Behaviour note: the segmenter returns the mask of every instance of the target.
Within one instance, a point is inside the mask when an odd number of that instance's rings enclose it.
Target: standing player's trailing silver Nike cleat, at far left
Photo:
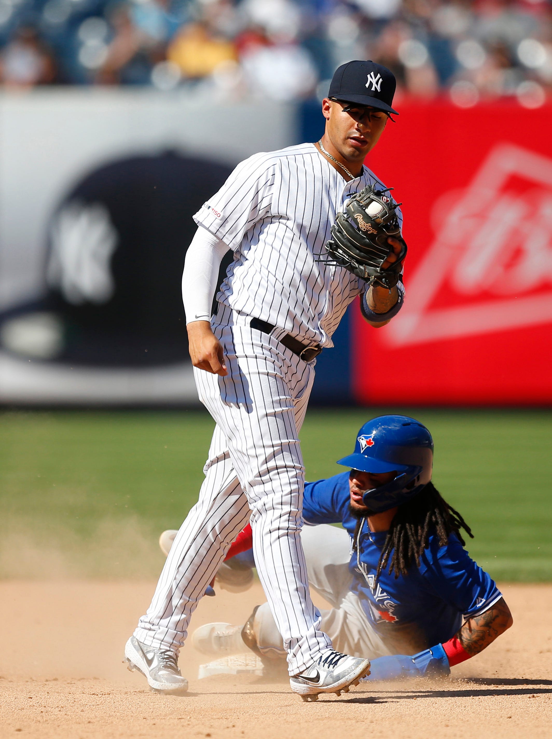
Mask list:
[[[125,645],[125,657],[128,669],[141,672],[154,692],[183,695],[188,690],[188,681],[180,674],[174,652],[149,647],[131,636]]]

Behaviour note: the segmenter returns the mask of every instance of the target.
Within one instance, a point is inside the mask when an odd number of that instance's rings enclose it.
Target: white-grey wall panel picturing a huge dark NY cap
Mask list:
[[[197,403],[180,279],[192,215],[296,142],[287,103],[0,95],[0,402]]]

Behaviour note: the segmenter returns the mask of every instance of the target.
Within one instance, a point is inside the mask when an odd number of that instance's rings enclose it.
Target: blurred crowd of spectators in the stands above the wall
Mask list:
[[[350,59],[398,95],[470,106],[552,90],[543,0],[0,0],[5,87],[201,86],[219,98],[324,97]]]

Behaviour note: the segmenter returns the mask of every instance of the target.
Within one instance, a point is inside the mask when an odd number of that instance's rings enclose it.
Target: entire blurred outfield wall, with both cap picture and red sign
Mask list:
[[[552,106],[400,109],[368,165],[403,201],[405,306],[376,331],[352,305],[313,400],[551,403]],[[0,401],[197,402],[191,214],[237,161],[323,125],[316,102],[1,95]]]

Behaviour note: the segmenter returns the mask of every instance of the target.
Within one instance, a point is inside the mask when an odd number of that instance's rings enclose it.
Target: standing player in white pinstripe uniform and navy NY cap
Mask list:
[[[370,186],[385,191],[363,162],[396,112],[394,92],[389,69],[371,61],[344,64],[322,103],[324,137],[245,160],[194,217],[198,229],[186,254],[183,299],[197,389],[217,426],[199,501],[126,644],[129,668],[143,672],[159,692],[187,689],[177,655],[191,614],[249,520],[291,689],[316,700],[321,692],[347,691],[369,673],[367,659],[333,650],[310,599],[300,537],[299,429],[316,356],[333,346],[333,331],[355,296],[374,327],[401,308],[406,245],[400,211],[395,237],[384,234],[380,271],[354,260],[344,268],[342,256],[328,248],[330,236],[342,235],[333,224],[347,203]],[[380,204],[389,201],[380,193]],[[354,217],[363,232],[375,234],[364,211]],[[358,231],[359,242],[363,238]],[[219,265],[229,249],[234,262],[211,316]]]

